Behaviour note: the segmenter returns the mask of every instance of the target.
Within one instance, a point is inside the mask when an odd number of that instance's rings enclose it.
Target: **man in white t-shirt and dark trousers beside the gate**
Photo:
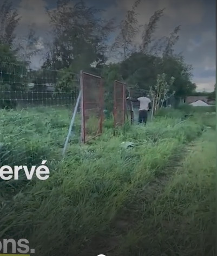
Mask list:
[[[130,99],[129,97],[127,99]],[[140,102],[139,109],[139,123],[146,124],[148,118],[148,111],[152,108],[151,100],[147,97],[146,93],[143,93],[143,97],[140,97],[136,100],[130,99],[133,102]]]

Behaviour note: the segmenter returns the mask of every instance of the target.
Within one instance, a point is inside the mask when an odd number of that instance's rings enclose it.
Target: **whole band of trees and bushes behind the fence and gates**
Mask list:
[[[102,10],[89,7],[83,1],[73,5],[70,0],[57,1],[56,9],[48,10],[52,40],[46,44],[43,66],[37,71],[28,71],[31,57],[40,52],[39,39],[34,26],[30,25],[26,39],[18,43],[15,29],[21,17],[10,2],[4,1],[0,7],[0,62],[10,65],[5,67],[0,63],[3,75],[0,89],[27,90],[27,84],[34,83],[34,91],[38,92],[44,91],[46,84],[53,84],[57,91],[75,92],[75,74],[83,69],[103,76],[108,108],[115,79],[126,81],[136,94],[154,88],[157,76],[165,74],[167,91],[174,92],[176,99],[195,94],[193,67],[181,54],[174,52],[180,26],[157,39],[157,24],[164,9],[156,10],[147,24],[139,24],[140,2],[133,3],[119,24],[113,18],[104,20]],[[139,44],[134,42],[135,37],[140,37]],[[118,62],[107,64],[114,56]],[[62,73],[57,75],[54,71]],[[170,82],[172,77],[173,83]],[[214,93],[210,94],[210,98],[213,97]]]

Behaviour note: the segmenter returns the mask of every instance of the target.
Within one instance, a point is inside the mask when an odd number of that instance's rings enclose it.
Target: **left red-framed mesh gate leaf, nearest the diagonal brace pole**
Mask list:
[[[81,71],[81,140],[88,142],[102,133],[103,123],[103,81],[100,76]]]

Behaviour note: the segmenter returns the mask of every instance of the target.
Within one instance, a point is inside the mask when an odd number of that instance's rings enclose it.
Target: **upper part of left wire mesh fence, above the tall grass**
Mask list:
[[[0,107],[73,106],[79,92],[78,75],[0,62]]]

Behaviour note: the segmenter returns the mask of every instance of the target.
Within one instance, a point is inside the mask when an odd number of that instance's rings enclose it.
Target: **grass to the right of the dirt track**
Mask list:
[[[188,150],[154,199],[140,191],[117,254],[215,255],[215,132],[203,133]]]

